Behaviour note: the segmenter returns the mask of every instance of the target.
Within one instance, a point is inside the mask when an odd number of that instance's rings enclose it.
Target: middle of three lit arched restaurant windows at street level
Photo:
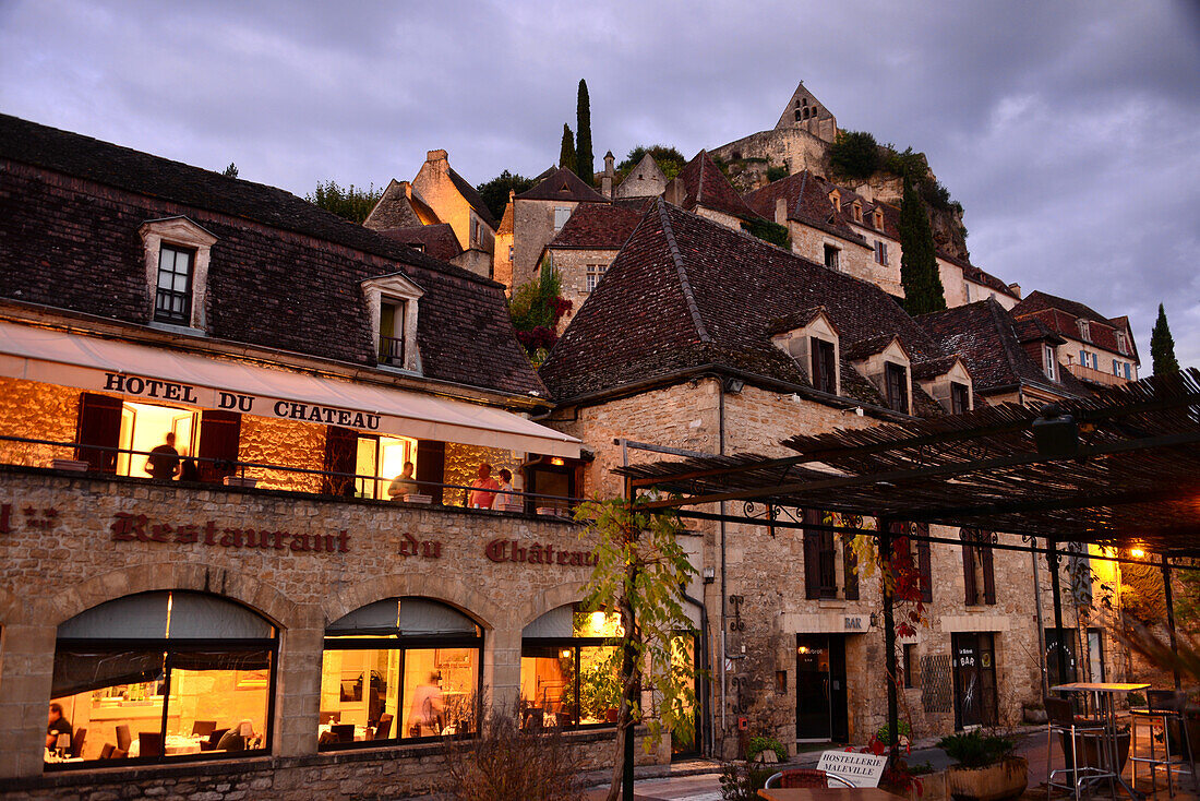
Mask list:
[[[325,627],[322,749],[476,730],[482,629],[426,598],[388,598]]]

